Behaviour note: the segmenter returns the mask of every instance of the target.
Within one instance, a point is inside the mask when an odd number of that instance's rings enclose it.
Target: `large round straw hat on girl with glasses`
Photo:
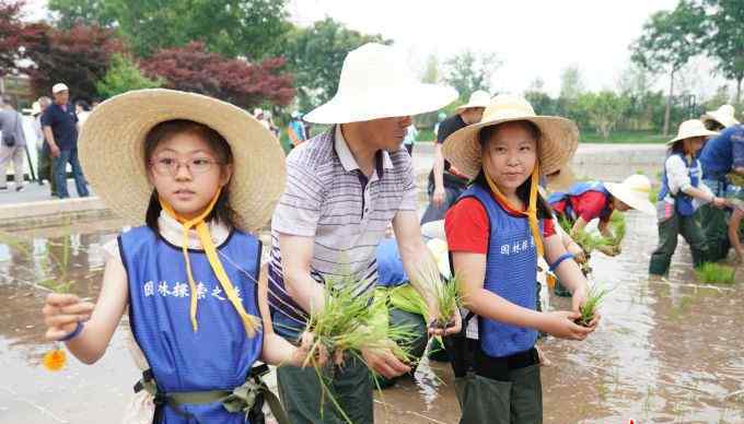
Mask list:
[[[284,154],[277,139],[246,111],[200,94],[139,90],[96,107],[80,134],[80,161],[97,196],[132,224],[144,222],[153,190],[144,166],[144,138],[158,123],[189,119],[219,132],[230,144],[230,202],[242,229],[271,217],[284,189]]]

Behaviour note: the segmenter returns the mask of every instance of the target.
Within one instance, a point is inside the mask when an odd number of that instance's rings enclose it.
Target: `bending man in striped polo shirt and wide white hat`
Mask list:
[[[305,116],[330,128],[287,156],[287,187],[271,220],[269,285],[279,294],[272,321],[291,341],[305,328],[307,311],[323,308],[327,275],[350,278],[360,293],[374,290],[375,249],[391,223],[406,273],[421,279],[435,270],[421,239],[412,164],[402,142],[411,115],[444,107],[456,92],[418,82],[405,62],[380,44],[350,51],[336,95]],[[434,310],[428,293],[420,294]],[[458,315],[453,318],[447,331],[458,331]],[[410,370],[390,350],[363,349],[361,356],[364,362],[346,354],[327,382],[354,424],[373,422],[369,368],[386,378]],[[292,423],[345,421],[324,401],[314,370],[282,367],[277,377]]]

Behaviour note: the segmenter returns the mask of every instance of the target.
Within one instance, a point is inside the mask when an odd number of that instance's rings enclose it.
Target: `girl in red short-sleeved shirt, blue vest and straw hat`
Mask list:
[[[447,341],[455,370],[461,423],[542,423],[537,331],[584,340],[598,323],[574,322],[589,283],[555,232],[537,186],[577,149],[572,121],[536,116],[530,103],[498,95],[480,122],[444,142],[444,156],[475,176],[447,212],[445,231],[454,273],[469,313],[458,342]],[[535,310],[537,257],[572,291],[571,310]],[[468,342],[466,335],[475,343]],[[473,351],[470,351],[473,350]],[[463,358],[472,355],[472,363]]]

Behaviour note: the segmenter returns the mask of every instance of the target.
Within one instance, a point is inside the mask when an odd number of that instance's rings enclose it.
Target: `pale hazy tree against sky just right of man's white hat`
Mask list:
[[[501,64],[496,54],[476,55],[465,50],[445,62],[445,81],[457,90],[461,101],[467,102],[477,90],[490,93],[491,76]]]

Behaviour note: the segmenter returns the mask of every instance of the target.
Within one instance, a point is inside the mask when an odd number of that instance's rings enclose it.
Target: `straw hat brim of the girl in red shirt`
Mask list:
[[[444,140],[444,157],[458,172],[474,178],[483,166],[478,132],[486,127],[521,120],[530,121],[540,130],[537,149],[543,174],[553,174],[571,160],[579,145],[579,128],[573,121],[555,116],[504,118],[461,128]]]

